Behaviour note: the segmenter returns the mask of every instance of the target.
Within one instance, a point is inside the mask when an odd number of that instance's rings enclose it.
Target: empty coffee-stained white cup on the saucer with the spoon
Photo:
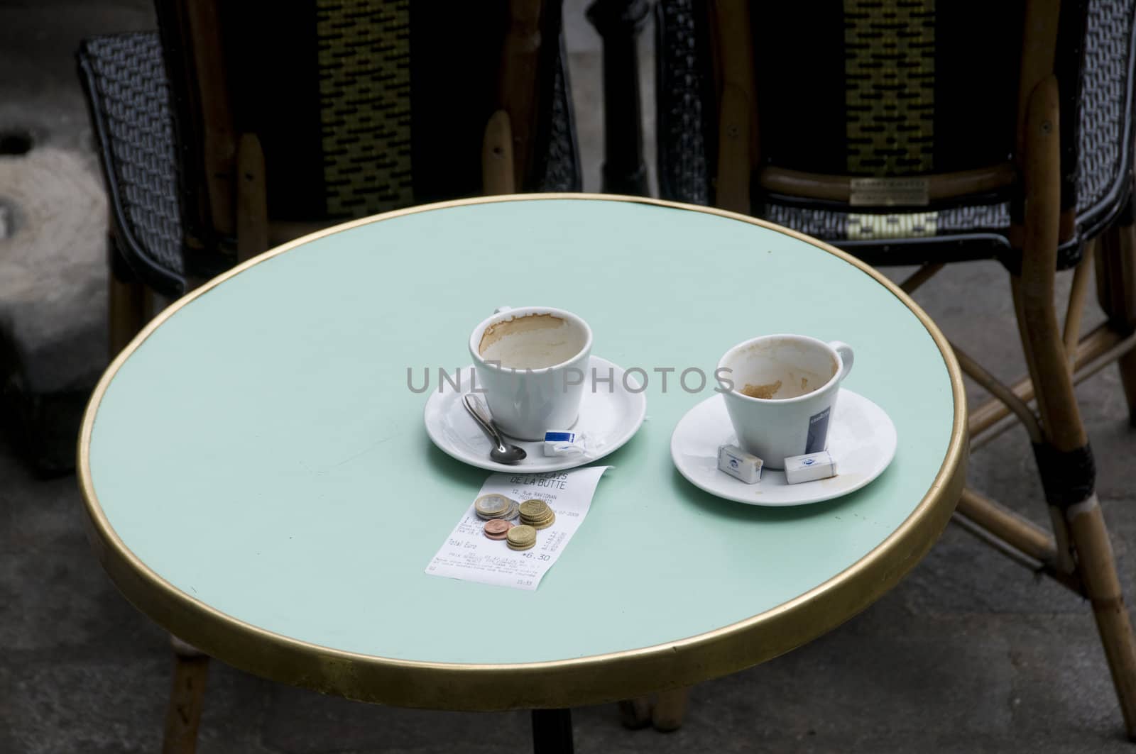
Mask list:
[[[501,307],[474,328],[469,353],[501,432],[543,439],[576,425],[592,353],[583,319],[551,307]]]

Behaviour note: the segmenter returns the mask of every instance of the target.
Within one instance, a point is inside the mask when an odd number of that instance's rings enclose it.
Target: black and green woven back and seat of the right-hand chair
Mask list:
[[[738,209],[872,263],[1016,265],[1024,0],[660,0],[663,198],[720,203],[716,8],[730,6],[749,11],[757,123]],[[1134,11],[1061,2],[1062,266],[1131,191]]]

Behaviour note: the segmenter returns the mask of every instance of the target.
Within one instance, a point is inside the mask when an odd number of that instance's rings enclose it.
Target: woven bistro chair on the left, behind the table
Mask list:
[[[157,11],[158,32],[77,56],[112,209],[111,355],[161,300],[320,227],[579,190],[559,0]],[[164,751],[192,752],[208,657],[172,642]]]

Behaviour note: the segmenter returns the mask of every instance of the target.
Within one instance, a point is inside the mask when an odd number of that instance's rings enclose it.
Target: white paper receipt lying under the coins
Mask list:
[[[584,517],[592,506],[595,485],[610,468],[591,466],[545,474],[490,475],[475,499],[498,493],[517,502],[543,500],[556,512],[557,520],[536,533],[536,546],[517,552],[509,550],[503,539],[490,539],[482,534],[485,521],[477,517],[470,502],[461,520],[426,567],[426,572],[515,589],[535,589],[584,522]]]

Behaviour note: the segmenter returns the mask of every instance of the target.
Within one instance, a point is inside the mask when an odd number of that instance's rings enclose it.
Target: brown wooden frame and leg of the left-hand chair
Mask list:
[[[198,90],[191,94],[201,114],[206,195],[218,231],[236,236],[237,260],[272,245],[318,231],[326,224],[268,219],[265,154],[257,134],[236,133],[225,83],[216,0],[182,0],[178,23],[193,53]],[[537,109],[542,0],[510,0],[509,30],[502,45],[496,110],[485,126],[482,183],[485,194],[515,193],[533,160]],[[115,251],[110,240],[111,254]],[[115,261],[118,261],[117,259]],[[125,269],[109,282],[110,357],[114,358],[158,313],[153,292]],[[190,280],[190,290],[204,280]],[[174,673],[166,714],[162,754],[192,754],[204,703],[209,657],[170,635]]]

